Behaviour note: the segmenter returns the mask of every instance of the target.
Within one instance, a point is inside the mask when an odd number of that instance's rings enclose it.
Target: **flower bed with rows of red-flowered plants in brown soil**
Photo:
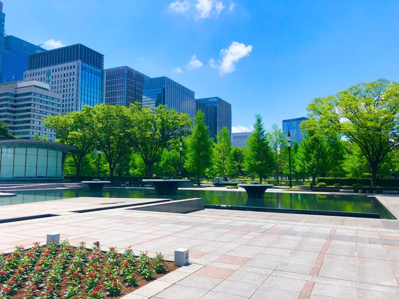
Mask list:
[[[175,270],[161,254],[136,258],[129,248],[118,254],[94,242],[92,250],[72,247],[68,241],[41,247],[35,243],[0,254],[0,299],[120,298]]]

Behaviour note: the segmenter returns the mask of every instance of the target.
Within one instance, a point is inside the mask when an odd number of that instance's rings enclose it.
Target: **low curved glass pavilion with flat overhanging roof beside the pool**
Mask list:
[[[2,140],[0,181],[62,180],[65,156],[72,149],[41,140]]]

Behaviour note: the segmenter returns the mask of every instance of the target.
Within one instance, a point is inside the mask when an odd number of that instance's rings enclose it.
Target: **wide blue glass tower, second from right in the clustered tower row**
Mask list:
[[[143,90],[143,107],[155,109],[167,105],[169,109],[196,116],[196,93],[187,87],[167,78],[146,79]]]

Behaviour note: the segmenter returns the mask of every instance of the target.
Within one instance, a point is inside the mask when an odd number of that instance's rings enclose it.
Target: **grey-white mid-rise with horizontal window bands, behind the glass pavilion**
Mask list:
[[[9,133],[20,139],[32,139],[36,134],[55,140],[55,133],[43,125],[43,117],[61,113],[62,99],[49,91],[47,84],[37,81],[0,84],[0,120]]]

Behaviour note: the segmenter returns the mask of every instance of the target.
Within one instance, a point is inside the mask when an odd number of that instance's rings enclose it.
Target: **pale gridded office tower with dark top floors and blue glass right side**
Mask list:
[[[82,44],[29,55],[23,81],[50,85],[62,98],[62,114],[80,111],[84,105],[104,102],[104,55]]]

